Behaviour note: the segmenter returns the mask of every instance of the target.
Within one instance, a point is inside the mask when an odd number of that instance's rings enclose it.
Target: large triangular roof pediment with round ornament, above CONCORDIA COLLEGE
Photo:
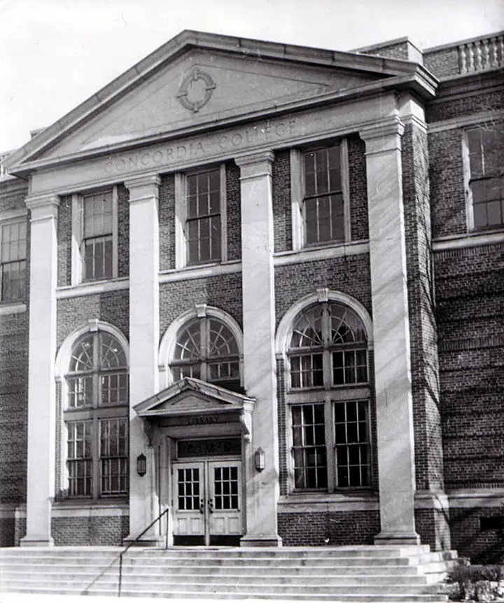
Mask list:
[[[269,116],[302,102],[404,81],[418,65],[330,50],[183,32],[45,128],[6,160],[23,164],[111,152]]]

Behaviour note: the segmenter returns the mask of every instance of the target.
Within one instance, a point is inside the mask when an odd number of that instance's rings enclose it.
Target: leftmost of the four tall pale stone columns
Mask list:
[[[50,546],[55,492],[57,212],[55,195],[29,196],[31,211],[27,533],[21,546]]]

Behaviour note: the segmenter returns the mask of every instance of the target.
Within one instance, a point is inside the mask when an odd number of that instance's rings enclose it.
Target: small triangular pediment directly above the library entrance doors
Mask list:
[[[137,404],[139,417],[169,417],[181,415],[215,415],[220,413],[251,412],[253,398],[218,387],[193,377],[163,389],[155,396]]]

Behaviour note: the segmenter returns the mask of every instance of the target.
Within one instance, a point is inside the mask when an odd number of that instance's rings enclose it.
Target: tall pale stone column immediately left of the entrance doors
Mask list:
[[[158,393],[160,176],[125,181],[130,190],[130,535],[134,539],[156,518],[155,455],[144,421],[133,407]],[[147,458],[147,473],[137,473],[137,457]],[[156,540],[158,527],[142,537]]]

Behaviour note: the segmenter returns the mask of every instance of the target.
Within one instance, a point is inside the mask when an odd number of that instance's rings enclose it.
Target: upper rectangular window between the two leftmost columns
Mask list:
[[[83,280],[113,277],[113,193],[83,197]]]

